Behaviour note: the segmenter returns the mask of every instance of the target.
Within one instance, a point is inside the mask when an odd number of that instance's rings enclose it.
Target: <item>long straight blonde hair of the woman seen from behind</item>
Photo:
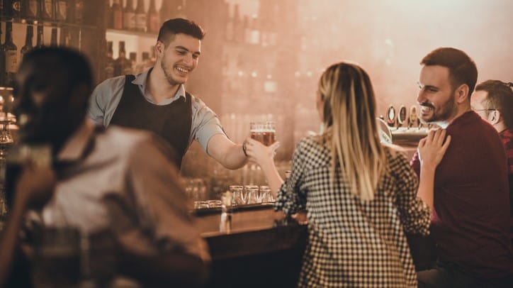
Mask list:
[[[332,179],[340,167],[351,192],[361,200],[374,199],[386,166],[376,126],[376,99],[371,79],[358,65],[331,65],[319,80],[323,105],[323,137],[331,143]]]

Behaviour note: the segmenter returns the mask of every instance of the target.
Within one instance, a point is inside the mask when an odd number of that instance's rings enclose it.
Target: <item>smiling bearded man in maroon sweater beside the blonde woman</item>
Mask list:
[[[436,167],[431,232],[438,261],[419,287],[513,287],[506,155],[497,131],[470,108],[475,62],[454,48],[429,52],[419,74],[420,118],[451,135]],[[416,153],[412,166],[419,173]]]

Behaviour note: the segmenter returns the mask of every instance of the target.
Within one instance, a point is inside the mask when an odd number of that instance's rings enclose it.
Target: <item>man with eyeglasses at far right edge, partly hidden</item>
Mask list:
[[[511,208],[510,234],[513,243],[513,83],[486,80],[475,87],[470,106],[499,132],[506,150]]]

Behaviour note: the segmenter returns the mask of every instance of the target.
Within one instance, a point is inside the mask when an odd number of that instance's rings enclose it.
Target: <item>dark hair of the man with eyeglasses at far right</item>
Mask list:
[[[483,100],[485,109],[497,109],[507,128],[513,128],[513,90],[509,83],[500,80],[486,80],[475,87],[475,91],[485,91],[488,96]],[[490,111],[486,111],[488,115]]]

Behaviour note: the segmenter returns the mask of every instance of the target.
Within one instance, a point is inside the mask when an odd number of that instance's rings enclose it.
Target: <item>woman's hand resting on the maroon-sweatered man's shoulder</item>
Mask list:
[[[451,143],[451,135],[447,135],[445,129],[429,131],[425,138],[419,141],[419,160],[421,169],[435,169],[444,157]]]

